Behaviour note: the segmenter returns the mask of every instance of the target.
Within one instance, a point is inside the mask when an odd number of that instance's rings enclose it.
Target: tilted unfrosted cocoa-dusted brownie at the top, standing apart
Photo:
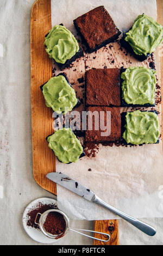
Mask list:
[[[88,52],[94,52],[115,41],[121,34],[103,5],[90,10],[73,22]]]

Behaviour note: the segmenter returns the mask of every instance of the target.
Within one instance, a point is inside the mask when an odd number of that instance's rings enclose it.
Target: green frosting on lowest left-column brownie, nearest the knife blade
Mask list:
[[[62,163],[77,162],[83,153],[79,139],[70,128],[62,128],[47,138],[48,146]]]

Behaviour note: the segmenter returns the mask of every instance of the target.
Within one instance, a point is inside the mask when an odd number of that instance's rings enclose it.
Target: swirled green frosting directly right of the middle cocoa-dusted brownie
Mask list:
[[[127,68],[121,74],[122,98],[127,104],[155,103],[156,71],[143,66]]]

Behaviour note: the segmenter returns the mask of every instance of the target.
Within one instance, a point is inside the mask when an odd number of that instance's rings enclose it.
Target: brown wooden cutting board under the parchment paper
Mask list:
[[[163,25],[163,1],[158,3],[158,21]],[[42,188],[57,195],[57,186],[46,178],[49,172],[55,172],[55,157],[48,148],[46,137],[53,133],[52,109],[45,106],[40,86],[52,77],[52,60],[45,51],[43,42],[45,35],[52,27],[51,0],[37,0],[32,7],[30,20],[30,60],[31,60],[31,108],[32,108],[32,144],[33,175]],[[161,60],[162,64],[162,60]],[[161,75],[162,80],[162,75]],[[94,245],[118,245],[118,221],[93,221],[96,231],[109,233],[108,243],[94,240]],[[100,238],[101,235],[96,235]]]

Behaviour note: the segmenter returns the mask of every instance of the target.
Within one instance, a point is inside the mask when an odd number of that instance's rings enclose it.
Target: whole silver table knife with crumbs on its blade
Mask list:
[[[144,222],[137,220],[136,218],[133,218],[127,214],[124,214],[124,212],[117,210],[116,208],[112,207],[109,204],[106,204],[102,199],[97,197],[95,193],[93,193],[91,190],[89,190],[89,188],[86,188],[85,186],[83,186],[76,180],[71,179],[67,175],[62,174],[62,173],[48,173],[46,176],[49,180],[52,180],[55,183],[61,185],[62,187],[67,188],[67,190],[70,190],[70,191],[78,194],[78,196],[83,197],[92,203],[101,205],[104,208],[110,210],[114,214],[120,216],[121,218],[123,218],[124,220],[129,222],[130,224],[134,225],[136,228],[140,229],[143,233],[150,235],[150,236],[155,235],[156,230],[153,227],[151,227],[150,225],[148,225]]]

